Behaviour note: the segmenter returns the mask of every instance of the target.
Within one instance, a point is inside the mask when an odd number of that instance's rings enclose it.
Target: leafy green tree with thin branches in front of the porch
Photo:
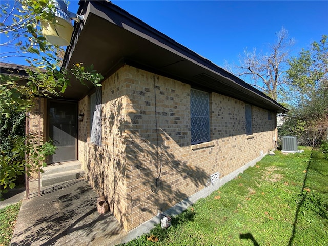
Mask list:
[[[75,64],[71,69],[60,67],[60,57],[62,57],[60,52],[62,53],[63,49],[48,43],[39,28],[39,23],[42,21],[55,24],[54,8],[51,0],[2,2],[1,61],[18,57],[25,59],[29,64],[29,67],[25,67],[25,75],[0,74],[2,117],[12,117],[13,112],[21,116],[34,106],[37,97],[59,95],[70,85],[69,80],[73,76],[81,83],[91,81],[93,85],[101,86],[100,81],[104,77],[93,69],[93,65],[85,67],[82,64]],[[0,140],[5,137],[5,134],[2,134]],[[45,166],[46,156],[55,151],[51,142],[35,144],[33,136],[18,134],[12,137],[8,146],[11,149],[0,146],[0,185],[4,189],[7,186],[14,187],[16,176],[24,172],[25,167],[30,174]],[[27,161],[23,158],[25,154],[29,157]]]

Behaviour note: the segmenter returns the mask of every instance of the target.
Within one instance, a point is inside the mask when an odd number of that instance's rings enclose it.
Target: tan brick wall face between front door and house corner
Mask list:
[[[102,90],[102,145],[90,143],[90,96],[79,101],[78,159],[86,177],[98,195],[105,195],[110,211],[125,227],[125,142],[122,137],[125,122],[125,96],[118,73],[104,81]]]

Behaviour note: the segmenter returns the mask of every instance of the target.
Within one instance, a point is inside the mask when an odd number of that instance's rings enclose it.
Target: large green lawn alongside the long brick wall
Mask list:
[[[157,242],[153,242],[153,241]],[[133,245],[328,245],[328,159],[311,149],[265,156]]]

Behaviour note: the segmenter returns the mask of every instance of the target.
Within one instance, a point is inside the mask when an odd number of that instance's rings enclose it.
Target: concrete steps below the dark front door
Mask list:
[[[41,186],[43,187],[84,177],[79,161],[56,163],[43,170],[44,172],[41,173]]]

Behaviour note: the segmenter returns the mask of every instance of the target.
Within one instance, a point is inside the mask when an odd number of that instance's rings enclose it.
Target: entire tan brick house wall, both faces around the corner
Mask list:
[[[267,110],[252,106],[253,135],[246,136],[245,103],[217,93],[210,94],[212,141],[191,146],[190,90],[127,65],[103,84],[103,145],[81,136],[87,151],[79,159],[127,231],[208,186],[211,174],[226,176],[273,148]],[[87,100],[79,104],[84,111]]]

